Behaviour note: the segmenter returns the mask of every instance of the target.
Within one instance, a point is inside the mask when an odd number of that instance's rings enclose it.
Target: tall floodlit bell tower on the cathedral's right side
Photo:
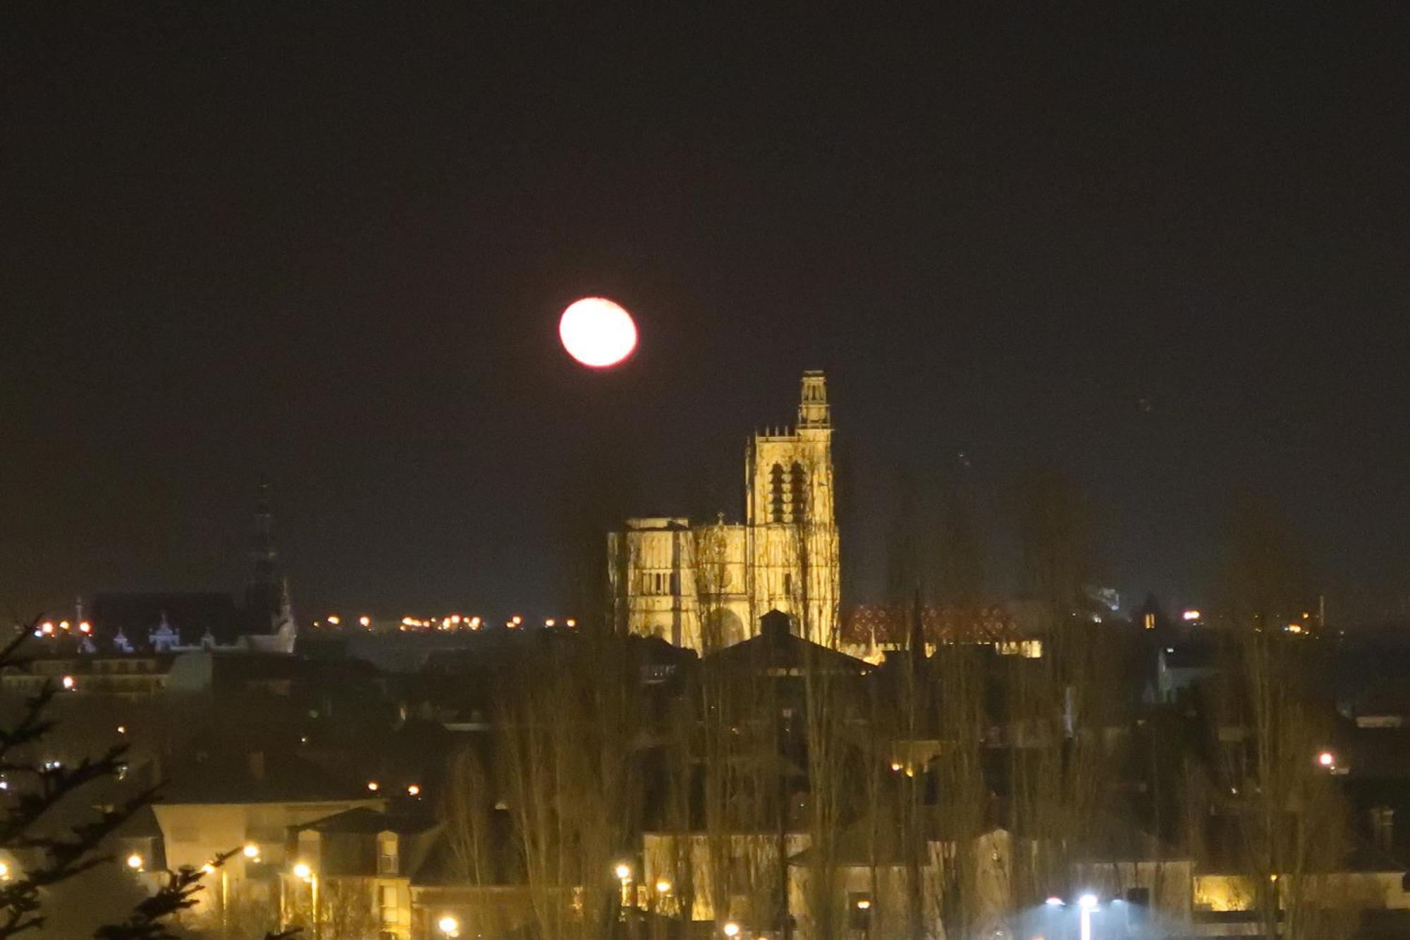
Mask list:
[[[756,433],[744,473],[750,621],[781,610],[799,635],[836,645],[832,412],[821,371],[802,374],[798,426]]]

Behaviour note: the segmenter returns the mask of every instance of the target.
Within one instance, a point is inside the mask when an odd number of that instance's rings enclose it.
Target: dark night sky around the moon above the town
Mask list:
[[[1396,4],[219,6],[0,13],[6,605],[238,587],[268,476],[307,615],[548,610],[602,452],[737,514],[808,367],[853,600],[902,473],[998,519],[1034,463],[1125,591],[1207,597],[1245,486],[1410,594]]]

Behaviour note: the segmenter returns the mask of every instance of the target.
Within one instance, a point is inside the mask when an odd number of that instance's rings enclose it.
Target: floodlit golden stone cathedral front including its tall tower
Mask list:
[[[754,635],[759,618],[778,610],[794,632],[836,646],[833,488],[828,385],[807,371],[797,426],[749,442],[744,522],[633,518],[608,535],[618,627],[708,652]]]

